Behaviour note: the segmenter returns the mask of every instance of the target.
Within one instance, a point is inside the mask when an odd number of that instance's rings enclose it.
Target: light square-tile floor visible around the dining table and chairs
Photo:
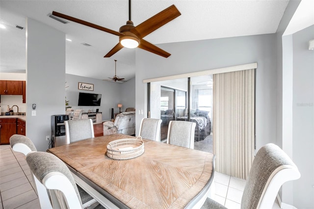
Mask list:
[[[213,199],[229,209],[239,209],[245,181],[215,172]],[[29,168],[22,153],[0,146],[0,209],[40,209]],[[275,202],[273,209],[280,209]]]

